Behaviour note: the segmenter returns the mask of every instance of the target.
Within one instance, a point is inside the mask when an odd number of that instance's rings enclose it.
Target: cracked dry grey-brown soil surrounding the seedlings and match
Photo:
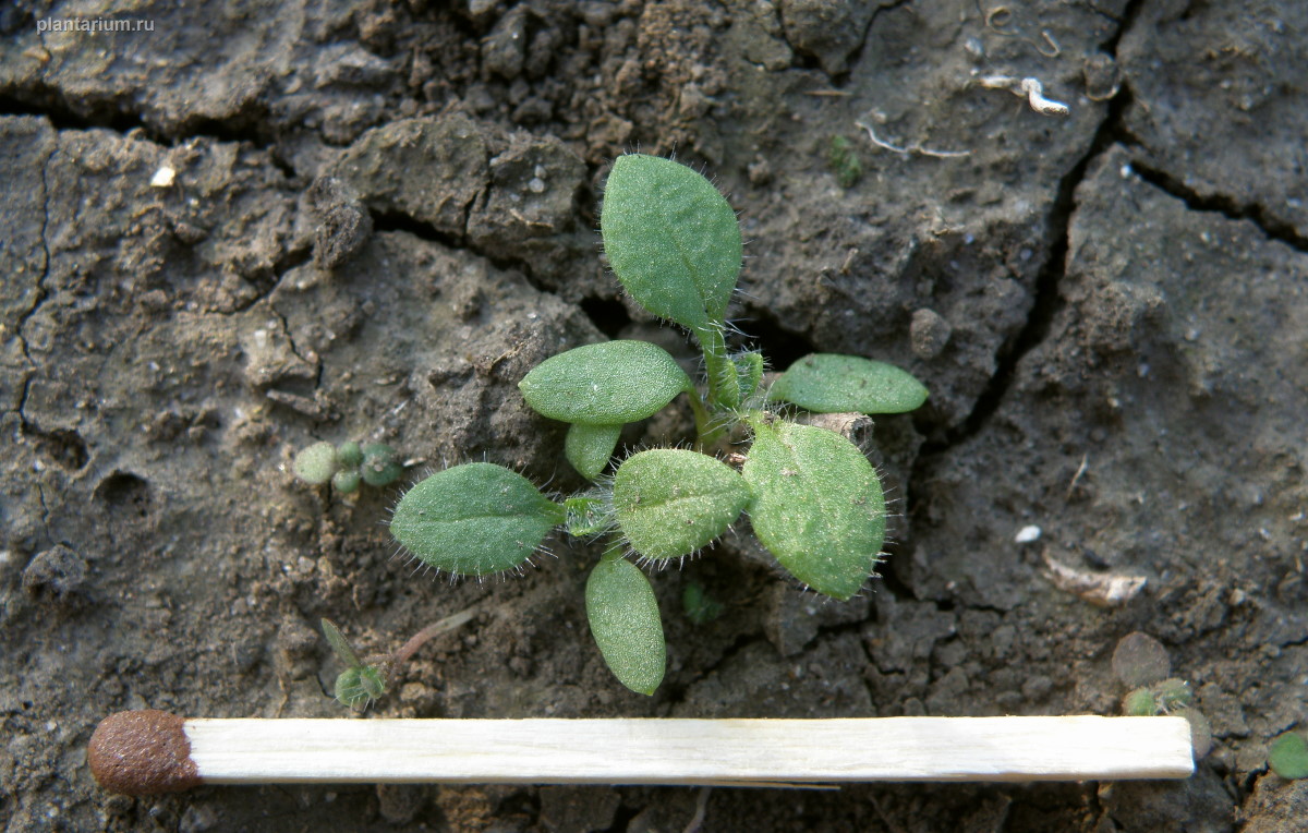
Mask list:
[[[7,829],[1308,829],[1308,781],[1266,766],[1308,723],[1308,5],[118,5],[0,9]],[[150,27],[51,25],[76,18]],[[855,353],[931,391],[872,432],[884,577],[820,602],[743,531],[655,575],[654,697],[590,641],[595,551],[451,586],[392,558],[395,489],[289,472],[375,439],[413,476],[488,459],[578,488],[515,386],[606,336],[675,341],[598,251],[637,148],[740,211],[732,314],[773,366]],[[1067,574],[1144,583],[1101,605]],[[689,582],[718,619],[685,616]],[[122,709],[347,719],[319,617],[373,653],[467,609],[370,717],[1116,714],[1113,650],[1143,632],[1213,748],[1184,782],[816,792],[128,799],[88,772]]]

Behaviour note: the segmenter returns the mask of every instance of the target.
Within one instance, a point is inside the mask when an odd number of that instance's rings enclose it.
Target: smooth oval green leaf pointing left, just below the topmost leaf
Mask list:
[[[547,358],[518,382],[542,416],[586,425],[644,420],[691,387],[676,360],[649,341],[578,347]]]

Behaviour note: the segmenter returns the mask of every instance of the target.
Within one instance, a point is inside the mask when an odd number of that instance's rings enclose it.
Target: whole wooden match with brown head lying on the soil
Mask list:
[[[1185,778],[1184,718],[351,721],[120,711],[89,760],[114,792],[200,783],[812,785]]]

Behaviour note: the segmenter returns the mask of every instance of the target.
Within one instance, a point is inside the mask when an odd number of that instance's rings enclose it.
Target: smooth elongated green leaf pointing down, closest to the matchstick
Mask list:
[[[654,588],[634,564],[606,556],[586,581],[590,633],[613,676],[633,692],[653,694],[663,681],[667,646]]]

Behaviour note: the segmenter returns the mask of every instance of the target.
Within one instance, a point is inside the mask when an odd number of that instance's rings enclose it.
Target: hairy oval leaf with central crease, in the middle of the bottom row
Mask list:
[[[680,449],[627,458],[613,479],[617,526],[647,558],[688,556],[726,532],[749,486],[726,463]]]

